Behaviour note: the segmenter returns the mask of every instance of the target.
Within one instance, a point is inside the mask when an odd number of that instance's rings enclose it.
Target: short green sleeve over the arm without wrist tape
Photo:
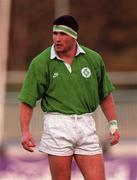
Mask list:
[[[45,86],[46,78],[44,79],[42,68],[32,61],[26,74],[23,86],[19,93],[18,99],[34,107],[36,102],[42,97]]]

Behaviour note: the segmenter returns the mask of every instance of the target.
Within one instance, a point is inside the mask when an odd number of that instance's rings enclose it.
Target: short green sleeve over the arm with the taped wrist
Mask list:
[[[99,83],[98,83],[98,92],[100,102],[108,96],[112,91],[115,90],[114,85],[112,84],[104,65],[102,58],[100,57],[100,71],[99,71]]]

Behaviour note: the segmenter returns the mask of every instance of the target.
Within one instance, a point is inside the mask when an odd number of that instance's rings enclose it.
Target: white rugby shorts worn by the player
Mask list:
[[[101,154],[102,148],[91,114],[47,113],[39,151],[57,156]]]

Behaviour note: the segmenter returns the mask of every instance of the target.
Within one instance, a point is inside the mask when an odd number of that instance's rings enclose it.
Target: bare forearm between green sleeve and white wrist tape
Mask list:
[[[105,97],[100,106],[108,121],[117,119],[116,108],[112,94]]]

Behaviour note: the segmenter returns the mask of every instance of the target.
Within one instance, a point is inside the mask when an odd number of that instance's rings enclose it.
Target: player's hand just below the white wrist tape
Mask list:
[[[111,132],[109,133],[109,139],[110,139],[111,145],[115,145],[119,142],[120,133],[119,133],[118,129],[116,129],[116,131],[113,133],[111,133]]]

